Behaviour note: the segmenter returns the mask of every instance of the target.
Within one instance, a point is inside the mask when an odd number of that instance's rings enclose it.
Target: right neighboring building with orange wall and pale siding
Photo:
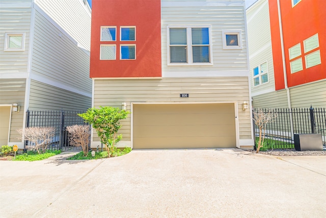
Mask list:
[[[326,107],[326,1],[258,0],[246,12],[253,106]]]

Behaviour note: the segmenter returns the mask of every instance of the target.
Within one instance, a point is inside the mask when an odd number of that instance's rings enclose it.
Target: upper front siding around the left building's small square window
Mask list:
[[[0,75],[4,78],[20,73],[20,77],[27,77],[31,8],[7,8],[16,4],[5,3],[1,1],[0,7]],[[25,33],[24,51],[4,51],[6,32]]]

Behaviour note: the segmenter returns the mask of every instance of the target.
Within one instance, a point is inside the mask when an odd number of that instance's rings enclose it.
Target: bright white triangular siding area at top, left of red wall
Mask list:
[[[78,46],[90,51],[91,11],[83,0],[35,0],[35,4],[76,40]]]

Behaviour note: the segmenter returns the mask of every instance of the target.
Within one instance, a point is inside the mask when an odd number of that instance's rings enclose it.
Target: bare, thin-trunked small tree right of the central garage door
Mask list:
[[[255,124],[259,128],[259,140],[256,151],[256,153],[259,153],[260,148],[263,147],[267,123],[273,122],[274,118],[276,118],[276,114],[270,110],[263,112],[261,109],[253,109],[253,116]]]

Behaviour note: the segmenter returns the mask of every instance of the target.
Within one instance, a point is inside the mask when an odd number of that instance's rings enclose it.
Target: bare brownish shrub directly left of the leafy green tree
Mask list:
[[[82,147],[84,155],[88,155],[91,129],[89,125],[74,125],[66,128],[69,132],[69,142],[76,147]]]

